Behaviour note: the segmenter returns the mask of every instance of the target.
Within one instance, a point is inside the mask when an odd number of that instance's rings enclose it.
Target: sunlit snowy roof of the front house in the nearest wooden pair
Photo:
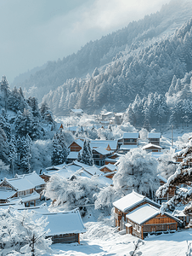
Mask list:
[[[155,218],[155,216],[159,214],[160,210],[158,208],[151,206],[150,204],[144,204],[143,206],[133,210],[133,212],[127,213],[126,217],[132,220],[134,223],[144,224],[150,218]],[[181,222],[178,218],[172,216],[168,212],[164,212],[164,214],[178,222]]]

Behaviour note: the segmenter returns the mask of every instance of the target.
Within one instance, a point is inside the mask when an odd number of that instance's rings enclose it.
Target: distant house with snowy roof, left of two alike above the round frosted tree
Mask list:
[[[127,151],[132,148],[138,148],[138,138],[138,132],[124,132],[123,136],[117,140],[118,148],[125,148]]]

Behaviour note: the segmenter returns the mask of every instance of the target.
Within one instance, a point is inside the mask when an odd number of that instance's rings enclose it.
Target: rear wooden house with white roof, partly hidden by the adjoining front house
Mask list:
[[[113,206],[115,207],[114,222],[116,227],[119,227],[120,230],[124,230],[127,213],[132,212],[136,208],[141,207],[147,203],[154,207],[161,207],[161,205],[155,201],[152,201],[150,198],[144,195],[140,195],[135,191],[115,201]]]

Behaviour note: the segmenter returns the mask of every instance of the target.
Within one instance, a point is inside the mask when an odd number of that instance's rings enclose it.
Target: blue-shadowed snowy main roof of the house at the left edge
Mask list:
[[[8,179],[5,177],[3,182],[9,183],[13,189],[16,189],[18,191],[35,188],[34,184],[32,184],[25,176],[24,177],[14,177],[11,179]],[[1,185],[1,183],[0,183],[0,185]]]

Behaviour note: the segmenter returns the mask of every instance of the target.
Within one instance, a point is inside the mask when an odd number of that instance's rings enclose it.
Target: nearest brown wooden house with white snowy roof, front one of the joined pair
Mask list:
[[[127,234],[137,236],[141,239],[148,234],[157,234],[164,231],[178,230],[181,220],[168,212],[160,213],[159,208],[150,204],[144,204],[126,215]]]

